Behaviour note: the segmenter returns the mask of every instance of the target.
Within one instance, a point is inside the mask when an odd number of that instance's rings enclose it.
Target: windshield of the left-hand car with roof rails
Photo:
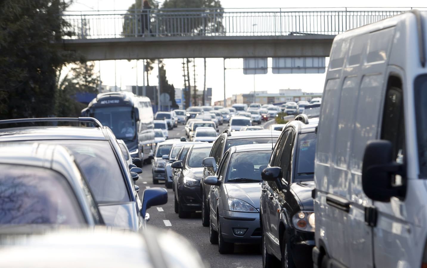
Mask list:
[[[106,140],[44,140],[73,152],[98,203],[129,202],[121,168]]]

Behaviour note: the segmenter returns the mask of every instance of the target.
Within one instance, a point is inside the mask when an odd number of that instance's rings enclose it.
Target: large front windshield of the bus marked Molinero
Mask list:
[[[132,107],[96,108],[93,117],[103,126],[108,126],[119,140],[133,140],[136,134],[136,124]]]

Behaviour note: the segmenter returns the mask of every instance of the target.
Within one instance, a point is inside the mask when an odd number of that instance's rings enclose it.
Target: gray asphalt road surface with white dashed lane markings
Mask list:
[[[267,128],[273,123],[266,122],[263,125]],[[227,125],[219,126],[219,133],[227,128]],[[185,136],[184,126],[178,125],[174,130],[169,131],[170,138]],[[152,183],[151,165],[143,166],[143,173],[140,175],[137,185],[141,191],[149,187],[164,187],[164,184]],[[168,189],[168,202],[161,207],[152,207],[148,210],[150,214],[150,225],[162,229],[170,229],[188,239],[199,251],[205,263],[211,268],[251,268],[261,267],[262,257],[260,255],[260,245],[236,245],[233,254],[219,254],[218,245],[209,242],[208,227],[202,226],[201,212],[193,213],[190,218],[180,219],[174,212],[174,195],[172,189]]]

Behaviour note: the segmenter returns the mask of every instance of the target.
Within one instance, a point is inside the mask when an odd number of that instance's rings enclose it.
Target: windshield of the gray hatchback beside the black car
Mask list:
[[[268,166],[272,150],[244,151],[231,155],[225,182],[260,182],[261,172]]]

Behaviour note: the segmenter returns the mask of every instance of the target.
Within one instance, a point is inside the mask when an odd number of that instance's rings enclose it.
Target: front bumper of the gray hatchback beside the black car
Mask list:
[[[260,213],[222,210],[219,213],[219,223],[225,242],[250,244],[261,242]],[[233,228],[247,230],[243,236],[237,236]]]

